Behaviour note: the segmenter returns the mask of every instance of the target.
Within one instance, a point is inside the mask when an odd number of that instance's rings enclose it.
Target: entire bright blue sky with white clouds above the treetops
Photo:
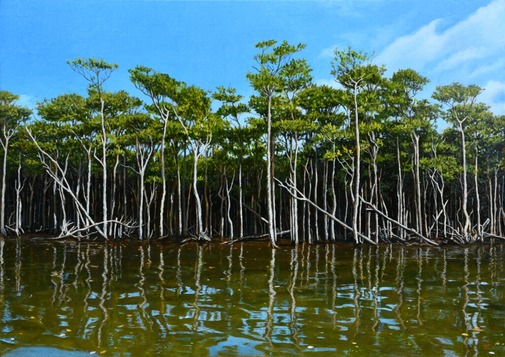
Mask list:
[[[144,65],[186,83],[252,93],[245,73],[254,44],[266,39],[305,42],[302,55],[316,83],[332,84],[332,51],[375,51],[388,75],[413,68],[436,85],[486,88],[480,100],[505,114],[505,0],[494,1],[165,1],[2,0],[0,88],[20,103],[86,82],[67,59],[103,57],[119,70],[106,89],[140,96],[128,68]]]

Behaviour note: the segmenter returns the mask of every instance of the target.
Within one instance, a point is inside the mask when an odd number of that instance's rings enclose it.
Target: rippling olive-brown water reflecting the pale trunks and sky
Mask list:
[[[0,354],[505,355],[504,251],[0,240]]]

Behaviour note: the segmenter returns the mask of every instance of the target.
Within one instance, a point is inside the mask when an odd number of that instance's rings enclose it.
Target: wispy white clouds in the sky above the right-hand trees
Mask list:
[[[478,100],[491,106],[497,115],[505,114],[505,0],[494,0],[467,18],[440,29],[443,18],[420,27],[412,34],[394,39],[375,57],[386,65],[387,76],[398,69],[412,68],[427,76],[422,97],[429,98],[435,87],[460,82],[477,84],[486,90]],[[319,57],[333,55],[331,46]],[[332,80],[317,84],[335,86]]]

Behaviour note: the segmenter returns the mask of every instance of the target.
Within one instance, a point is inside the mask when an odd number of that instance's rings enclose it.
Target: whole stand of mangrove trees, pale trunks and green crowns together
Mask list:
[[[128,70],[138,92],[110,92],[118,66],[99,58],[68,61],[87,96],[38,102],[37,118],[2,91],[2,235],[275,246],[505,234],[505,116],[479,102],[483,88],[423,99],[428,78],[386,78],[351,48],[335,49],[335,85],[316,85],[304,44],[256,48],[249,98],[143,66]]]

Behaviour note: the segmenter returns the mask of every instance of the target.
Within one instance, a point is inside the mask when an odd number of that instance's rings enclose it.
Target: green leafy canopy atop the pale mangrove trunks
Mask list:
[[[93,185],[100,181],[97,178],[103,167],[96,155],[101,156],[105,146],[109,172],[113,167],[114,173],[124,169],[121,180],[117,178],[115,184],[117,190],[121,186],[128,196],[128,207],[121,207],[117,212],[135,217],[138,214],[138,211],[134,212],[138,209],[135,206],[138,204],[135,172],[139,167],[136,160],[154,148],[146,163],[145,182],[153,185],[149,189],[158,187],[160,190],[157,184],[164,182],[162,177],[167,178],[166,197],[167,200],[170,197],[171,208],[170,213],[165,208],[165,213],[172,215],[170,219],[175,221],[178,219],[174,213],[178,210],[174,201],[178,199],[175,190],[178,177],[181,195],[185,196],[182,199],[189,207],[183,215],[193,210],[187,200],[188,197],[193,199],[189,193],[196,190],[200,192],[202,202],[205,201],[216,214],[218,209],[212,205],[217,192],[222,189],[223,174],[229,184],[232,180],[235,184],[237,175],[233,176],[232,172],[239,167],[242,169],[243,202],[248,202],[248,197],[251,205],[256,205],[252,209],[265,214],[263,181],[268,167],[265,159],[269,145],[273,149],[270,152],[273,151],[276,178],[292,177],[307,193],[309,180],[322,176],[323,160],[335,160],[335,167],[329,163],[330,169],[335,170],[335,182],[326,183],[327,192],[323,197],[327,199],[333,195],[332,184],[340,185],[336,187],[338,192],[350,194],[354,183],[361,180],[356,187],[359,186],[364,196],[373,197],[378,205],[382,205],[381,209],[387,206],[390,214],[397,210],[397,190],[405,195],[403,205],[417,205],[413,200],[415,193],[409,191],[416,183],[420,184],[420,189],[415,191],[423,191],[424,195],[426,190],[425,196],[432,195],[433,200],[440,199],[433,195],[435,188],[430,187],[435,182],[446,185],[447,195],[457,197],[461,194],[461,177],[464,177],[462,134],[467,145],[466,158],[471,163],[467,165],[467,173],[475,173],[476,159],[477,180],[489,186],[484,170],[499,172],[499,178],[505,168],[505,116],[493,115],[487,105],[477,101],[482,92],[479,86],[459,83],[438,86],[432,95],[437,104],[433,104],[421,98],[421,91],[429,83],[426,77],[405,69],[386,79],[385,68],[373,64],[373,53],[355,51],[350,47],[335,49],[331,74],[336,88],[316,85],[312,83],[312,69],[306,59],[298,57],[305,44],[268,40],[255,47],[258,49],[254,57],[256,65],[254,71],[246,74],[256,91],[250,97],[240,95],[233,87],[218,86],[210,92],[166,73],[136,66],[128,70],[129,77],[146,96],[144,102],[123,90],[104,90],[103,83],[118,66],[101,58],[68,61],[72,70],[88,81],[87,95],[66,92],[44,99],[37,103],[40,120],[29,122],[31,111],[16,105],[19,96],[0,92],[0,129],[10,135],[11,140],[11,149],[6,155],[8,172],[14,172],[20,157],[24,175],[44,172],[37,157],[37,147],[29,140],[27,132],[19,129],[23,123],[49,156],[61,164],[67,162],[72,185],[77,185],[76,177],[80,177],[82,187],[82,175],[87,173],[88,163],[94,176]],[[219,103],[213,110],[216,102]],[[440,119],[450,124],[442,133],[436,126]],[[271,141],[267,144],[265,133],[268,129]],[[357,152],[360,153],[358,166]],[[188,167],[193,163],[197,167],[197,188],[190,186],[194,173]],[[300,168],[305,165],[311,174]],[[420,174],[411,174],[417,168],[421,170]],[[356,179],[356,173],[360,180]],[[107,180],[108,186],[112,181],[111,174]],[[302,186],[302,180],[307,180],[307,186]],[[380,186],[375,186],[376,193],[370,191],[373,182]],[[200,185],[206,185],[206,191],[201,191]],[[321,184],[318,185],[317,191],[312,191],[316,196],[322,192]],[[498,182],[498,190],[499,185]],[[96,187],[94,192],[99,195]],[[488,187],[485,190],[487,195]],[[285,199],[274,192],[277,198]],[[472,187],[468,192],[475,195]],[[234,197],[236,194],[235,191],[231,193]],[[379,199],[380,195],[383,197]],[[481,196],[484,205],[488,198]],[[157,214],[160,206],[156,202],[160,195],[156,193],[153,197],[155,204],[149,212]],[[338,200],[343,202],[340,197]],[[429,200],[432,200],[431,196]],[[129,207],[130,202],[135,209]],[[351,200],[347,202],[351,204]],[[429,206],[430,202],[427,203]],[[458,207],[450,209],[457,211]],[[284,207],[279,211],[283,210]],[[426,210],[427,216],[433,213],[429,208]],[[45,214],[52,215],[53,211]],[[219,221],[215,217],[209,219]],[[406,216],[405,219],[412,218]],[[455,220],[455,217],[450,219]],[[188,226],[191,224],[189,222]]]

